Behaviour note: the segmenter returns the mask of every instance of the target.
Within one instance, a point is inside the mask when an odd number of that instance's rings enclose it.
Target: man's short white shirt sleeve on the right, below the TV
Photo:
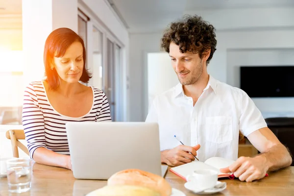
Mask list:
[[[239,101],[241,111],[239,128],[245,137],[260,128],[267,127],[267,123],[259,109],[252,99],[242,90]]]

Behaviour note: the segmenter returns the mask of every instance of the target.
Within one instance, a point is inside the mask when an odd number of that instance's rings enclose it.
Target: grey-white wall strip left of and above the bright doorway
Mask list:
[[[147,117],[147,53],[161,52],[161,36],[161,33],[130,34],[130,121],[145,121]]]

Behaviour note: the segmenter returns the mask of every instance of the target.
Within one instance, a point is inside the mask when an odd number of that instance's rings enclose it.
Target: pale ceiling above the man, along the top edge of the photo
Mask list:
[[[159,32],[185,11],[294,6],[294,0],[109,0],[130,33]]]

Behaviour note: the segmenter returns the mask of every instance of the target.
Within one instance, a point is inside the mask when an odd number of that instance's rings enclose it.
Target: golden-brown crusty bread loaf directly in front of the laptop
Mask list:
[[[160,196],[172,194],[171,185],[161,176],[137,169],[128,169],[113,174],[107,185],[133,185],[142,186],[160,193]]]

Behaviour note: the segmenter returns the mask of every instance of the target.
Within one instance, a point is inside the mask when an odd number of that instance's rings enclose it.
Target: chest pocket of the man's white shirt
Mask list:
[[[229,116],[206,117],[206,140],[222,144],[233,139],[233,118]]]

